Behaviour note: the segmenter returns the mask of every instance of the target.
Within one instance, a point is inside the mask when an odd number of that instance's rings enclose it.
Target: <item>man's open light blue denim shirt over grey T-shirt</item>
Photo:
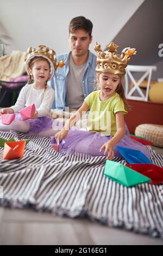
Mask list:
[[[70,52],[71,53],[71,52]],[[66,82],[67,75],[69,71],[69,59],[70,53],[65,53],[56,56],[57,62],[63,60],[65,65],[62,68],[58,68],[55,71],[55,75],[51,81],[48,82],[49,86],[51,86],[55,90],[55,98],[53,101],[52,108],[64,110],[65,108],[65,99],[66,99]],[[87,60],[84,76],[83,76],[83,94],[86,97],[88,94],[93,92],[96,81],[96,56],[89,51],[89,58]]]

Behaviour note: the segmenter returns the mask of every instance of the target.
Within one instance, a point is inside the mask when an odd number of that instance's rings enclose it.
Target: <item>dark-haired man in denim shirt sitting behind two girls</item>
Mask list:
[[[78,109],[93,91],[96,80],[96,56],[89,51],[92,22],[83,16],[74,17],[69,25],[71,52],[57,56],[65,65],[55,72],[51,87],[55,90],[53,108]]]

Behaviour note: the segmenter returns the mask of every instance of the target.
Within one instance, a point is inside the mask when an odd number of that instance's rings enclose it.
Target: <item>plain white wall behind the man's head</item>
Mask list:
[[[59,53],[69,51],[68,24],[75,16],[93,23],[95,41],[102,48],[121,30],[144,0],[0,0],[1,28],[13,38],[11,50],[48,45]]]

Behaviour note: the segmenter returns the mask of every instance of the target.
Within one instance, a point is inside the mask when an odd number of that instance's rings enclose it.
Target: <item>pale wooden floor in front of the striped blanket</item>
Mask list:
[[[86,219],[1,207],[0,245],[163,245],[163,240]]]

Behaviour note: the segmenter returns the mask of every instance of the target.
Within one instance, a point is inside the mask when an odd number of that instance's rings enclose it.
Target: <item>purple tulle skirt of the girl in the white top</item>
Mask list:
[[[15,120],[23,121],[22,117],[19,113],[16,113]],[[38,117],[36,119],[27,119],[24,122],[28,122],[30,124],[29,132],[39,133],[41,131],[45,131],[52,128],[53,119],[48,117]]]

